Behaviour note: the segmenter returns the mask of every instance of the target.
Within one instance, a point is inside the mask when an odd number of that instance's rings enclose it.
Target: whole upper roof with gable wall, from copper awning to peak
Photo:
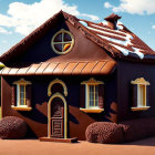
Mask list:
[[[115,16],[116,14],[114,14],[114,17]],[[84,21],[87,25],[85,25],[85,24],[83,25],[81,23],[81,21]],[[72,27],[70,27],[70,24]],[[94,29],[92,27],[92,24],[96,27],[95,30],[93,30],[93,31],[90,30],[90,28]],[[84,48],[87,49],[90,46],[90,44],[89,45],[86,44],[87,43],[86,39],[87,39],[91,42],[94,42],[94,44],[101,46],[101,48],[97,46],[100,50],[104,49],[103,50],[104,52],[102,52],[102,53],[104,53],[104,56],[102,59],[114,58],[114,59],[122,59],[122,60],[127,60],[127,61],[141,61],[141,62],[153,62],[154,63],[154,59],[155,59],[154,51],[148,45],[146,45],[140,38],[137,38],[134,33],[132,33],[126,27],[124,27],[123,24],[121,24],[118,27],[122,27],[123,29],[113,30],[115,35],[117,35],[118,33],[120,34],[125,33],[125,35],[127,37],[130,33],[134,38],[134,40],[132,40],[132,42],[131,42],[131,39],[130,39],[125,45],[122,45],[112,40],[115,39],[120,42],[124,34],[121,37],[114,37],[113,34],[112,35],[105,34],[105,32],[106,33],[110,31],[112,32],[111,27],[105,25],[103,23],[93,23],[90,21],[80,20],[80,19],[76,19],[74,16],[60,11],[53,18],[49,19],[45,23],[43,23],[40,28],[34,30],[30,35],[28,35],[25,39],[23,39],[21,42],[19,42],[17,45],[11,48],[4,54],[2,54],[0,56],[0,61],[9,66],[9,65],[16,65],[16,62],[18,60],[24,62],[22,64],[28,63],[27,65],[29,65],[30,63],[48,61],[50,59],[49,56],[51,56],[50,60],[52,60],[52,58],[54,58],[54,61],[56,61],[56,60],[65,60],[65,61],[68,60],[69,61],[71,59],[74,60],[75,58],[81,60],[81,59],[85,59],[84,58],[85,54],[89,54],[89,59],[90,58],[91,59],[92,58],[95,58],[95,59],[102,58],[102,56],[96,56],[96,55],[101,54],[100,52],[96,52],[96,51],[99,51],[96,49],[92,48],[93,50],[87,50],[89,53],[87,53],[87,51],[85,52]],[[51,49],[50,49],[50,45],[48,46],[48,44],[51,40],[48,39],[48,35],[52,38],[54,31],[60,30],[60,28],[70,29],[71,32],[74,32],[76,30],[78,31],[78,32],[75,32],[76,38],[79,38],[80,34],[83,34],[84,40],[82,38],[78,40],[79,42],[82,41],[82,44],[80,44],[78,46],[78,49],[74,45],[72,49],[72,52],[70,52],[72,54],[59,56],[56,54],[53,55],[53,53],[50,52]],[[71,28],[74,28],[74,30]],[[102,32],[101,32],[101,28],[102,28]],[[106,29],[106,31],[104,31],[103,29]],[[99,33],[99,31],[102,34]],[[51,33],[52,33],[52,35],[51,35]],[[44,43],[44,45],[43,45],[43,43]],[[76,43],[76,41],[75,41],[75,43]],[[82,45],[82,48],[81,48],[81,45]],[[44,50],[44,48],[49,48],[49,49]],[[81,50],[79,50],[79,48],[83,49],[84,52],[82,52],[82,53],[78,52],[78,51],[81,51]],[[137,50],[134,51],[135,48]],[[45,52],[44,53],[40,52],[41,50],[43,52],[44,51]],[[95,51],[95,52],[93,52],[93,51]],[[127,51],[127,54],[126,54],[126,51]],[[31,54],[28,54],[29,52]],[[76,55],[75,53],[79,53],[79,54]],[[111,58],[108,55],[111,55]],[[29,60],[27,60],[27,58]]]

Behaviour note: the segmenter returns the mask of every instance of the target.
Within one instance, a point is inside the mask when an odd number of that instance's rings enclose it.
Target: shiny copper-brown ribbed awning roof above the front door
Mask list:
[[[114,61],[42,62],[28,68],[3,68],[0,75],[62,75],[62,74],[110,74]]]

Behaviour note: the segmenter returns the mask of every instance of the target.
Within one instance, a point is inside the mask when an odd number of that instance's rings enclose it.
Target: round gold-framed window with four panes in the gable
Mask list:
[[[52,49],[58,54],[69,53],[74,44],[73,34],[64,29],[56,32],[51,41]]]

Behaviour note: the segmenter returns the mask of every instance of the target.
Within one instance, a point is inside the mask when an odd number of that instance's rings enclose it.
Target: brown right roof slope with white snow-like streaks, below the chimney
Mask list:
[[[140,59],[144,59],[145,54],[155,55],[155,52],[148,45],[123,24],[117,24],[117,30],[112,30],[105,23],[94,23],[86,20],[80,20],[80,22],[86,27],[91,33],[108,45],[117,49],[125,56],[134,54]]]

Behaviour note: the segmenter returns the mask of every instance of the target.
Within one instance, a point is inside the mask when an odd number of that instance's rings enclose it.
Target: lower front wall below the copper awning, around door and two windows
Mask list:
[[[115,74],[115,73],[114,73]],[[85,140],[85,130],[87,125],[97,121],[112,121],[115,112],[111,104],[116,102],[115,79],[110,76],[93,76],[95,80],[103,81],[105,84],[105,107],[104,112],[100,114],[86,114],[80,110],[80,85],[82,81],[89,80],[91,76],[22,76],[27,81],[32,82],[32,111],[22,112],[11,108],[11,85],[14,81],[20,80],[21,76],[3,76],[2,78],[2,116],[19,116],[23,118],[29,127],[30,133],[40,137],[48,134],[48,86],[51,81],[59,78],[68,87],[68,96],[65,97],[69,114],[68,114],[68,135],[69,137],[79,137]],[[63,93],[60,85],[52,89],[52,93]],[[32,136],[29,135],[29,136]]]

